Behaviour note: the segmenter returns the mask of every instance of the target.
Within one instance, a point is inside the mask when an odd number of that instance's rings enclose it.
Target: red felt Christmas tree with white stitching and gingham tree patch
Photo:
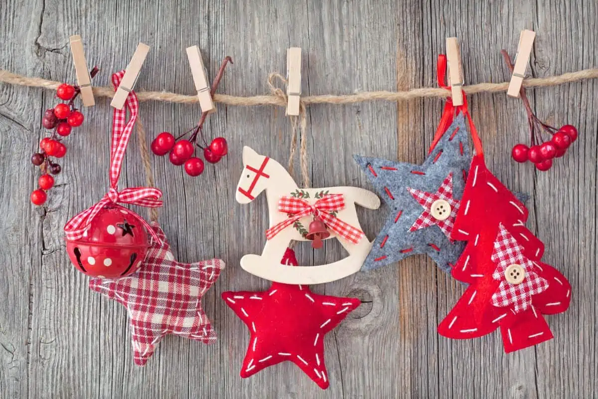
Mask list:
[[[451,274],[469,287],[438,333],[469,339],[500,328],[505,352],[553,338],[542,315],[565,311],[571,288],[565,276],[540,261],[544,244],[525,227],[527,216],[523,203],[486,168],[483,156],[474,156],[451,233],[452,239],[467,241]],[[507,263],[523,267],[521,284],[501,275]],[[517,287],[528,279],[532,288]],[[511,297],[504,301],[501,296]]]

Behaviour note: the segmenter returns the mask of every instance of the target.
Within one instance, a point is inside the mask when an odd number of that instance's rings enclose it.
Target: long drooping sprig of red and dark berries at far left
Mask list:
[[[100,70],[94,67],[90,71],[93,78]],[[54,178],[62,170],[62,166],[53,158],[62,158],[66,155],[66,145],[62,140],[70,135],[73,127],[83,124],[83,114],[75,108],[75,98],[81,93],[78,86],[62,83],[56,89],[56,97],[66,101],[58,103],[54,108],[48,108],[44,112],[41,124],[45,129],[51,130],[50,136],[44,137],[39,142],[39,152],[33,154],[31,163],[39,166],[42,175],[39,176],[39,188],[31,193],[31,202],[35,205],[42,205],[47,199],[45,191],[50,190],[54,185]]]

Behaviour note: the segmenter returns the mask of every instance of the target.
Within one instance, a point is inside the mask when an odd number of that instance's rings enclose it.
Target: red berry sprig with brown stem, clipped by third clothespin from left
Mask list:
[[[212,84],[212,90],[210,95],[214,96],[218,84],[224,75],[224,68],[227,63],[233,63],[231,57],[225,57],[220,65],[220,69],[216,78]],[[202,117],[197,123],[197,126],[193,129],[187,130],[181,136],[175,139],[169,132],[162,132],[154,141],[151,142],[151,151],[157,156],[164,156],[168,154],[168,159],[172,165],[181,166],[184,165],[185,172],[190,176],[199,176],[203,173],[205,165],[203,161],[194,156],[196,147],[200,148],[203,152],[203,157],[209,163],[218,163],[222,157],[228,153],[228,144],[224,137],[217,137],[208,144],[206,139],[203,137],[203,123],[205,123],[209,112],[202,112]],[[189,139],[184,139],[185,136],[190,134]],[[198,142],[198,138],[202,139],[203,145]]]

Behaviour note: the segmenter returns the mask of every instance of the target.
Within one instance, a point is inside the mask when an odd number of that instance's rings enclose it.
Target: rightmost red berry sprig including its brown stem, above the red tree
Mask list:
[[[513,64],[511,57],[509,57],[506,50],[502,50],[501,53],[512,72]],[[572,142],[577,139],[577,129],[570,124],[557,129],[542,122],[533,113],[523,86],[521,86],[519,94],[527,111],[531,144],[530,147],[527,147],[525,144],[515,144],[515,147],[511,151],[511,157],[515,162],[524,163],[530,161],[536,166],[536,169],[545,172],[553,166],[553,159],[564,156]],[[542,133],[549,135],[550,139],[544,141]]]

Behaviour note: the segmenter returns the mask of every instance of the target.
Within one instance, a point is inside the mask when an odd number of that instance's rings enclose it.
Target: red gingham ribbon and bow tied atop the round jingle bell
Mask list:
[[[124,71],[117,72],[112,75],[112,85],[114,89],[118,88],[120,81],[123,79]],[[127,121],[127,111],[129,109],[131,117]],[[162,206],[159,198],[162,196],[162,191],[157,188],[149,187],[134,187],[125,188],[118,191],[118,177],[120,176],[121,166],[123,165],[124,152],[127,150],[129,138],[133,132],[133,126],[137,120],[137,112],[139,103],[135,92],[130,92],[126,100],[126,108],[114,109],[114,118],[112,120],[112,144],[110,146],[110,188],[103,198],[91,206],[90,208],[79,212],[65,224],[65,235],[68,240],[78,240],[83,237],[83,233],[91,223],[97,213],[101,211],[106,205],[116,208],[124,208],[118,203],[129,203],[132,205],[147,206],[149,208],[156,208]],[[128,212],[131,212],[127,209]],[[138,215],[139,216],[139,215]],[[154,229],[149,226],[144,218],[139,217],[145,228],[152,234],[154,239],[158,239]]]

